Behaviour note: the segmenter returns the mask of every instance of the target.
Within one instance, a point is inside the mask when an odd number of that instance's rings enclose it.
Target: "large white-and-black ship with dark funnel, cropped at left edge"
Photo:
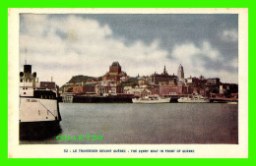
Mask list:
[[[55,86],[56,87],[56,86]],[[61,129],[57,88],[40,87],[32,65],[20,72],[20,138],[48,138]]]

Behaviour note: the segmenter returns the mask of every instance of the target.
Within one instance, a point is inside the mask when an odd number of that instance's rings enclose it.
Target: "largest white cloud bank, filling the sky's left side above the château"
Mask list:
[[[20,69],[28,50],[28,63],[40,81],[51,76],[58,84],[74,75],[102,76],[113,61],[119,61],[130,76],[161,70],[168,52],[158,39],[151,44],[137,40],[126,45],[112,36],[108,25],[78,16],[59,19],[48,15],[24,15],[20,34]]]

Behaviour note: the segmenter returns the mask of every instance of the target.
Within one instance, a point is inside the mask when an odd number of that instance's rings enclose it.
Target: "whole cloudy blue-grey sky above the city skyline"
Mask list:
[[[236,14],[21,14],[20,71],[39,81],[100,77],[118,61],[128,76],[162,73],[238,83]],[[26,53],[27,49],[27,53]]]

